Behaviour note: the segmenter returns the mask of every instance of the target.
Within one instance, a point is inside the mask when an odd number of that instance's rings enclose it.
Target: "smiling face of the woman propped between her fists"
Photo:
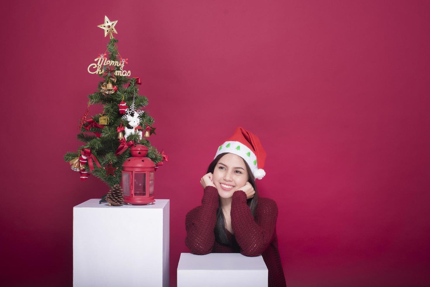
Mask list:
[[[247,181],[248,172],[242,157],[225,154],[218,160],[213,172],[213,182],[221,198],[231,198],[233,192],[243,187]]]

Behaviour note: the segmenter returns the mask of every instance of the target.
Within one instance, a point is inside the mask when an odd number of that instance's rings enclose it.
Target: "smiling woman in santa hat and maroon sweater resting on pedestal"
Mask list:
[[[276,202],[259,198],[255,178],[266,153],[257,136],[238,127],[218,148],[200,183],[202,205],[187,213],[185,244],[194,254],[263,256],[269,286],[286,286],[276,237]]]

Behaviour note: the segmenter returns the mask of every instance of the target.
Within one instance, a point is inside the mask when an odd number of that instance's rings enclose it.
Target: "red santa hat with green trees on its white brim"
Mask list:
[[[238,127],[233,136],[219,146],[215,157],[224,152],[242,157],[251,168],[256,179],[262,179],[266,175],[263,170],[266,152],[261,145],[260,139],[243,127]]]

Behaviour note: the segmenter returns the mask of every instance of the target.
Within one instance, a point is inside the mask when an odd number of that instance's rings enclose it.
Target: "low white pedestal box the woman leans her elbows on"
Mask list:
[[[240,253],[181,253],[178,287],[267,287],[268,271],[263,257]]]

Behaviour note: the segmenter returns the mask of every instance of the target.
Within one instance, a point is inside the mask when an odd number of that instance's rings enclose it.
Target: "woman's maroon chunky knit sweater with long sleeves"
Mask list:
[[[214,228],[218,209],[218,190],[206,186],[202,205],[195,207],[185,217],[187,237],[185,244],[198,255],[208,253],[241,253],[245,256],[262,255],[269,271],[269,287],[286,286],[284,272],[279,257],[276,237],[276,217],[278,207],[269,198],[258,198],[255,219],[246,204],[246,193],[235,191],[231,201],[231,228],[227,237],[231,246],[219,244],[215,240]]]

